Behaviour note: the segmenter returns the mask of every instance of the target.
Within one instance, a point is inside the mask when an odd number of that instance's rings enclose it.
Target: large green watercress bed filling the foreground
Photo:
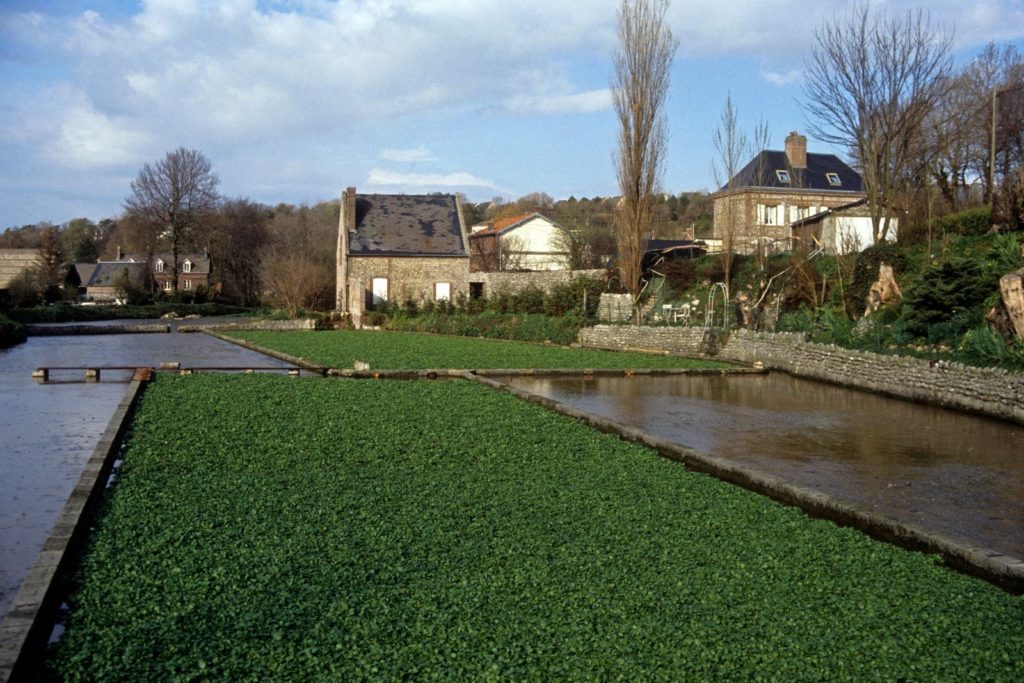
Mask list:
[[[1024,677],[1022,598],[475,384],[160,377],[124,457],[65,680]]]

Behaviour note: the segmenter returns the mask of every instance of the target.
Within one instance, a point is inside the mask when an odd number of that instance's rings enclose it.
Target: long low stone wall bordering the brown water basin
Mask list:
[[[722,343],[702,334],[700,328],[599,325],[581,331],[580,343],[683,355],[699,355],[717,347],[717,357],[723,360],[760,361],[798,377],[1024,424],[1024,373],[855,351],[814,344],[802,334],[749,330],[734,331]]]

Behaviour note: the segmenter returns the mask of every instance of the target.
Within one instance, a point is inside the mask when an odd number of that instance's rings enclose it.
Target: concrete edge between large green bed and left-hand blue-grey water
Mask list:
[[[60,607],[62,577],[72,569],[89,535],[90,517],[146,383],[145,379],[132,380],[0,623],[0,682],[30,678],[41,659]]]

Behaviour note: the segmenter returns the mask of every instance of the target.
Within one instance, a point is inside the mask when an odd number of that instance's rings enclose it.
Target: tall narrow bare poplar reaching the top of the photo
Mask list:
[[[665,165],[662,108],[679,41],[665,22],[668,0],[623,0],[612,99],[618,117],[615,170],[622,202],[615,216],[618,270],[640,316],[643,253],[651,231],[654,193]]]

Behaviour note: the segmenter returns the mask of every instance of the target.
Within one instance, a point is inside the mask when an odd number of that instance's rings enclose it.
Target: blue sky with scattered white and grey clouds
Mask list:
[[[617,0],[3,0],[0,229],[121,212],[142,164],[202,151],[228,197],[471,201],[616,193]],[[710,188],[731,93],[806,130],[814,29],[851,2],[675,0],[665,189]],[[873,0],[888,11],[913,3]],[[1024,49],[1022,0],[935,0],[957,61]],[[809,142],[811,151],[828,151]]]

